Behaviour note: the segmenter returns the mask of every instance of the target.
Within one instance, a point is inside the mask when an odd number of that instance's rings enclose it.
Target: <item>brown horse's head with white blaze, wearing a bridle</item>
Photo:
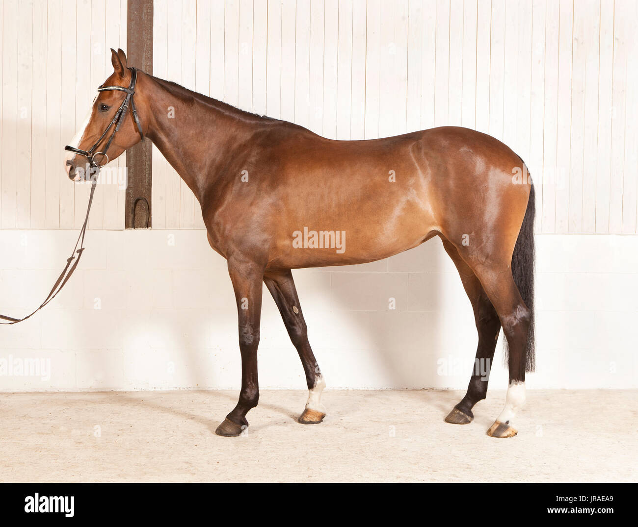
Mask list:
[[[141,118],[137,115],[141,97],[137,90],[137,72],[128,68],[126,55],[111,49],[113,74],[99,88],[91,112],[82,128],[69,143],[64,161],[68,177],[88,179],[91,166],[104,166],[143,138]]]

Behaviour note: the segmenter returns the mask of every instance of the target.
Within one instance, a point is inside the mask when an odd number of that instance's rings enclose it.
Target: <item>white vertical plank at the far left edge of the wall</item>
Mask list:
[[[3,6],[3,92],[2,92],[2,215],[3,229],[15,227],[15,191],[17,177],[17,121],[18,112],[18,2],[4,0]]]

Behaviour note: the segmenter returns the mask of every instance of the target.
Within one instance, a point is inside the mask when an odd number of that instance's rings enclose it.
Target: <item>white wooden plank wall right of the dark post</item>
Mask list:
[[[338,139],[445,124],[505,141],[537,231],[636,233],[634,0],[157,0],[154,73]],[[154,154],[153,226],[202,227]]]

